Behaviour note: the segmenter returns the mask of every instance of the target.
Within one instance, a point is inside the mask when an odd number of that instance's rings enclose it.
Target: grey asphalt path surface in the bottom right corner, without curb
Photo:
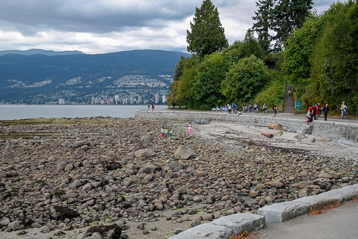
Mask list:
[[[319,215],[302,215],[282,223],[267,223],[248,239],[351,239],[358,238],[358,199]]]

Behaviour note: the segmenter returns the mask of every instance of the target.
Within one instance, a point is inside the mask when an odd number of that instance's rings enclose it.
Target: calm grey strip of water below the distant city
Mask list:
[[[167,105],[155,105],[154,110],[164,110]],[[147,105],[26,105],[0,104],[0,120],[37,118],[82,118],[109,116],[134,118],[137,110],[148,110]],[[151,109],[150,109],[151,110]]]

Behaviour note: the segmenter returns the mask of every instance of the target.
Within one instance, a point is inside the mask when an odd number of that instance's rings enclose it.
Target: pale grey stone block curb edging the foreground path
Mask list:
[[[284,222],[296,216],[306,214],[312,209],[318,210],[335,202],[346,202],[358,197],[358,184],[345,186],[293,201],[274,203],[259,208],[258,214],[236,213],[222,216],[210,223],[198,225],[168,239],[228,239],[232,234],[262,229],[267,222]]]

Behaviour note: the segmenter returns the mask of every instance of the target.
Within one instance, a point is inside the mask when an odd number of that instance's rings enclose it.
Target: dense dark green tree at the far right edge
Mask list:
[[[310,59],[312,82],[337,107],[342,101],[358,102],[357,12],[356,1],[332,5]]]

